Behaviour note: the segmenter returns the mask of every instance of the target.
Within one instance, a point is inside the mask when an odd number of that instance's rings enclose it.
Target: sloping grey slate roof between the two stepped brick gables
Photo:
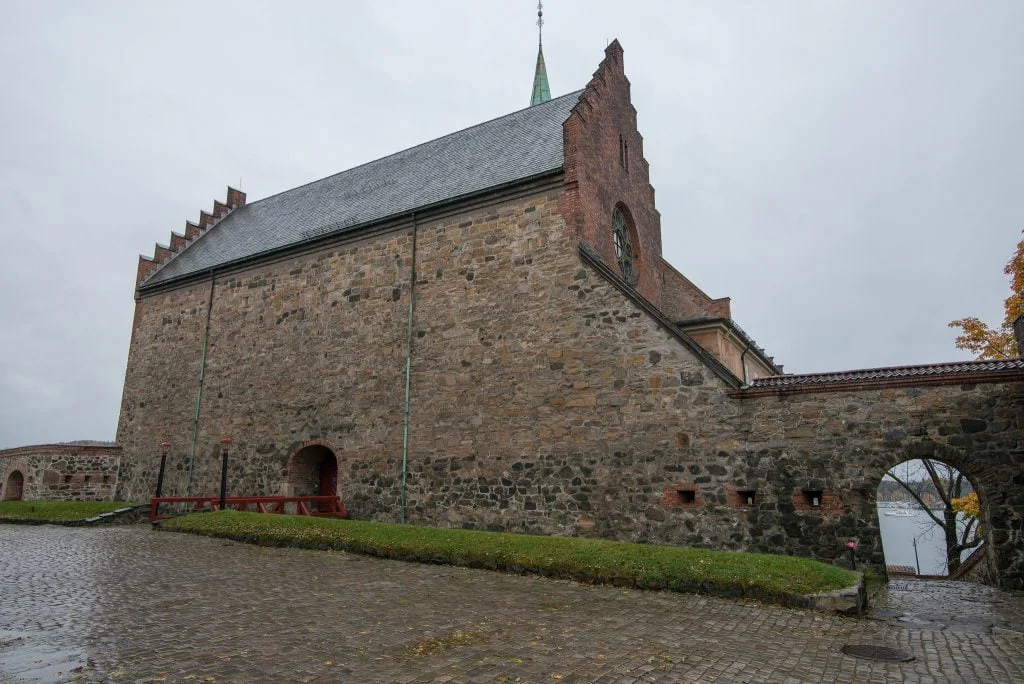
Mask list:
[[[561,169],[582,90],[236,209],[143,287]]]

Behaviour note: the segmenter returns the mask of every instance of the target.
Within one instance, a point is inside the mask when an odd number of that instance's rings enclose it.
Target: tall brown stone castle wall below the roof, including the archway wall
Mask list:
[[[986,493],[1017,576],[1019,384],[740,398],[581,258],[559,200],[553,186],[417,228],[410,521],[829,560],[856,539],[881,566],[878,483],[930,455]],[[411,256],[398,230],[217,279],[194,494],[216,493],[221,434],[238,494],[280,493],[296,451],[323,443],[349,511],[398,519]],[[190,441],[202,330],[176,316],[203,319],[206,288],[143,299],[119,430],[130,498],[152,491],[160,439]],[[166,490],[182,494],[172,460]]]

